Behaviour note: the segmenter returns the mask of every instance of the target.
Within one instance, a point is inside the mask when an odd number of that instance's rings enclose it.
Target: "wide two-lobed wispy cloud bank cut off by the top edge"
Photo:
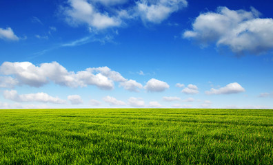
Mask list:
[[[125,20],[141,19],[144,23],[161,23],[170,14],[188,5],[186,0],[68,0],[61,12],[70,25],[88,25],[103,30],[119,27]]]

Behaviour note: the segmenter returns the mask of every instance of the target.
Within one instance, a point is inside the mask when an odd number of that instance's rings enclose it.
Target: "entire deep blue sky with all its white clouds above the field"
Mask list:
[[[0,14],[0,109],[273,109],[270,0],[3,0]]]

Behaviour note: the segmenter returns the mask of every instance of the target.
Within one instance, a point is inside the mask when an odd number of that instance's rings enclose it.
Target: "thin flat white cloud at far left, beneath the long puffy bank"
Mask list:
[[[66,102],[65,100],[62,100],[60,98],[54,98],[43,92],[39,92],[37,94],[19,95],[15,90],[6,90],[3,91],[3,97],[16,102],[50,102],[54,104],[64,104]]]

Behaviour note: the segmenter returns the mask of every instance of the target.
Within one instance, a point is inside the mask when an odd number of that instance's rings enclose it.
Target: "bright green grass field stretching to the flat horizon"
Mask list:
[[[272,164],[273,110],[0,109],[0,164]]]

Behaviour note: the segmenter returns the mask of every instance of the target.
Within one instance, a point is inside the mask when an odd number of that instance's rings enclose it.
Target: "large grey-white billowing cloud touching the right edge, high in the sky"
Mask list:
[[[216,12],[200,14],[183,37],[196,39],[202,45],[228,46],[236,54],[261,54],[273,48],[273,19],[261,19],[260,15],[254,8],[245,11],[219,7]]]

